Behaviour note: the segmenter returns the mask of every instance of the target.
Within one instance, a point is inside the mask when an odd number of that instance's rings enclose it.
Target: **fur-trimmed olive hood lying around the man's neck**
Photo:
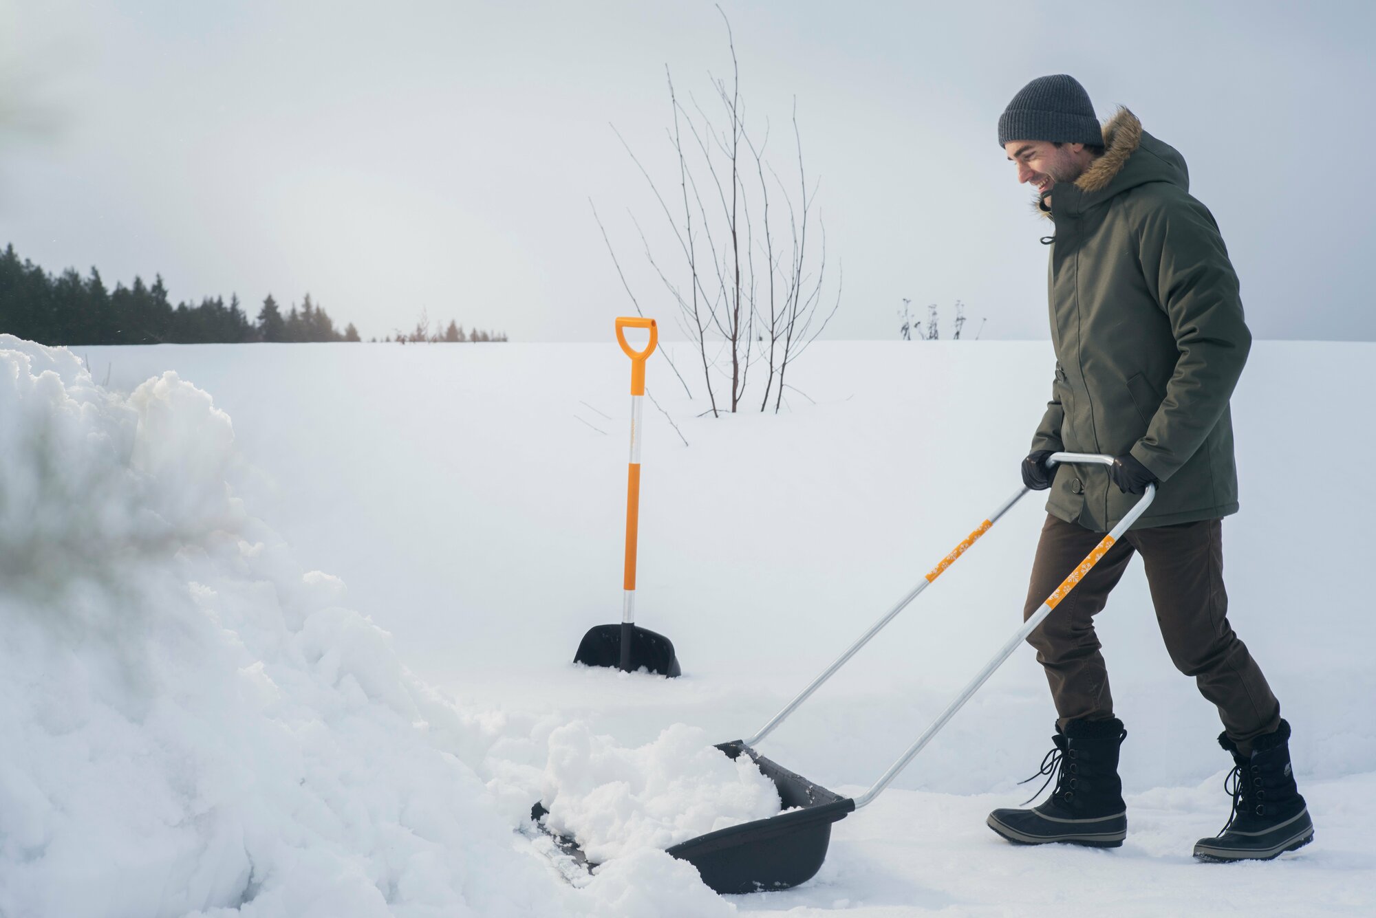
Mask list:
[[[1043,206],[1040,195],[1033,199],[1042,216],[1077,216],[1116,194],[1148,181],[1170,181],[1189,191],[1190,177],[1185,157],[1142,131],[1138,117],[1121,106],[1104,122],[1104,154],[1097,157],[1072,186],[1058,184],[1047,192],[1053,203],[1050,210]]]

